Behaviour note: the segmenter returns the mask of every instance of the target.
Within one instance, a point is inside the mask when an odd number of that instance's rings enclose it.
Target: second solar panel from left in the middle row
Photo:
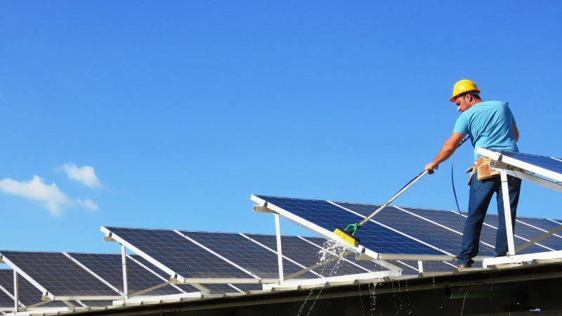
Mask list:
[[[277,254],[259,246],[255,242],[251,242],[251,240],[242,235],[226,232],[190,232],[184,230],[181,233],[262,279],[279,277]],[[283,268],[288,274],[303,270],[299,265],[295,265],[287,260],[283,261]],[[305,273],[299,277],[311,279],[317,276],[312,273]]]

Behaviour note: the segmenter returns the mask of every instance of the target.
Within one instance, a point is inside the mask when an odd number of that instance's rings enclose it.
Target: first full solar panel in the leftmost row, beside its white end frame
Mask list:
[[[54,296],[118,296],[110,287],[93,277],[64,254],[32,251],[0,251]]]

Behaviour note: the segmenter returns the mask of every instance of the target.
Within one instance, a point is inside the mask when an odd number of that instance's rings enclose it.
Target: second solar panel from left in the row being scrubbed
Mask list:
[[[370,204],[336,203],[344,206],[346,209],[351,209],[351,211],[360,213],[362,216],[369,216],[373,211],[379,208],[377,205]],[[377,213],[373,220],[395,230],[399,230],[422,242],[443,249],[443,251],[447,251],[448,254],[452,254],[453,256],[457,254],[460,249],[459,245],[462,244],[462,235],[446,230],[445,228],[392,206],[386,207],[380,213]],[[494,255],[492,251],[486,248],[480,249],[480,254],[483,256]]]

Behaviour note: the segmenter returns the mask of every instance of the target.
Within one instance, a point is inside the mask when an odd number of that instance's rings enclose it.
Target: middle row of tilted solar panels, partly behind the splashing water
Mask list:
[[[173,270],[181,277],[207,278],[238,278],[238,279],[276,279],[279,275],[277,268],[277,246],[274,235],[251,235],[227,232],[195,232],[174,230],[148,230],[141,228],[107,228],[112,237],[124,239],[127,243],[141,251],[141,256],[153,259],[159,264]],[[142,237],[141,237],[142,236]],[[156,240],[165,237],[166,249],[159,249]],[[179,237],[179,238],[178,238]],[[307,237],[308,238],[308,237]],[[319,263],[320,250],[325,239],[311,238],[313,242],[304,237],[282,237],[283,268],[285,275],[295,274],[295,278],[317,278],[329,275],[322,273],[303,272],[302,270]],[[315,244],[317,242],[320,245]],[[186,246],[187,245],[187,246]],[[298,252],[297,252],[298,251]],[[178,255],[179,254],[179,255]],[[188,260],[176,261],[176,258],[190,256],[190,260],[197,258],[212,258],[209,266],[221,269],[206,272],[197,271],[197,268],[186,266]],[[195,257],[193,257],[195,256]],[[335,254],[329,254],[336,256]],[[204,264],[204,263],[200,263]],[[332,271],[336,263],[329,263],[323,269]],[[365,273],[383,270],[375,263],[356,263],[355,258],[338,263],[338,270],[334,275]],[[208,268],[207,268],[208,269]],[[234,272],[232,272],[234,271]],[[343,273],[350,272],[350,273]],[[260,289],[259,285],[234,284],[239,289]]]

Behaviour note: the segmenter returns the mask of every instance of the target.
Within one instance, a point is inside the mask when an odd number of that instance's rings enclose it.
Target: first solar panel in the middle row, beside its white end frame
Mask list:
[[[182,277],[251,278],[251,275],[173,230],[112,227],[107,229]]]

